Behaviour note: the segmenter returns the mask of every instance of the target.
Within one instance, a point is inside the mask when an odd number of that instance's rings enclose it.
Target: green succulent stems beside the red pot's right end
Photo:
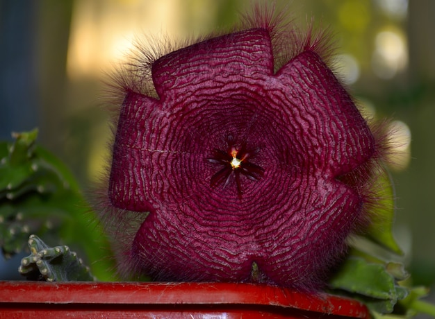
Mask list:
[[[411,318],[419,313],[435,317],[435,305],[421,300],[428,289],[409,286],[402,264],[373,260],[354,251],[329,280],[329,293],[363,302],[374,318]]]

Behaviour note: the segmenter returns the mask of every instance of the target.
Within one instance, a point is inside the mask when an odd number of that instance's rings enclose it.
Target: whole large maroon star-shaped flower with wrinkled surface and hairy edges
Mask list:
[[[366,216],[377,141],[324,40],[253,24],[137,59],[156,96],[124,77],[106,218],[124,273],[316,288]]]

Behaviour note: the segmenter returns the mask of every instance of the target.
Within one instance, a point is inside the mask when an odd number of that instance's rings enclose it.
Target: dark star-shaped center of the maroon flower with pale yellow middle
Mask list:
[[[227,143],[226,150],[215,148],[213,156],[207,159],[211,164],[220,166],[220,169],[211,177],[210,185],[217,187],[221,184],[225,188],[235,182],[238,195],[241,197],[243,190],[240,175],[254,181],[263,178],[264,169],[252,163],[259,148],[251,150],[247,148],[246,143],[236,144],[231,136],[227,138]]]

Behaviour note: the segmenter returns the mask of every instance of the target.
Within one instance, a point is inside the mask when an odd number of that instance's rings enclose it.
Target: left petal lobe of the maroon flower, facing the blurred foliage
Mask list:
[[[149,138],[149,132],[161,123],[156,110],[158,101],[153,98],[131,92],[124,99],[113,144],[109,182],[109,198],[115,207],[135,212],[152,209],[147,202],[149,189],[145,187],[142,169],[151,160],[143,153],[161,149],[161,140]]]

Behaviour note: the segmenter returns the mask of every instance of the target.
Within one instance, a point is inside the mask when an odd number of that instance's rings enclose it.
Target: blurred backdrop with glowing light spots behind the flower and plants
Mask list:
[[[277,1],[277,3],[284,1]],[[287,2],[287,1],[285,1]],[[101,80],[141,35],[183,39],[231,26],[252,1],[0,0],[0,139],[40,128],[39,142],[83,189],[107,158]],[[435,281],[435,1],[305,0],[288,10],[330,28],[336,64],[370,114],[394,117],[395,236],[416,284]]]

